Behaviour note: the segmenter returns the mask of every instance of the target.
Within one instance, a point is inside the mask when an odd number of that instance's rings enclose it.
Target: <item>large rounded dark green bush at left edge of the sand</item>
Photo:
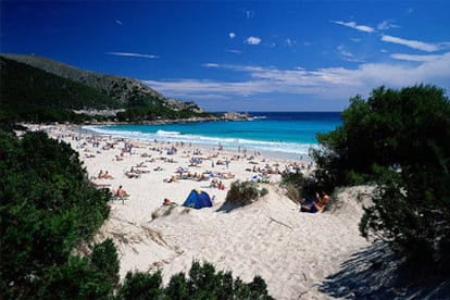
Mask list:
[[[52,272],[80,265],[70,264],[71,252],[108,217],[110,195],[89,184],[68,145],[43,133],[0,133],[0,288],[28,298],[36,283],[57,278]]]

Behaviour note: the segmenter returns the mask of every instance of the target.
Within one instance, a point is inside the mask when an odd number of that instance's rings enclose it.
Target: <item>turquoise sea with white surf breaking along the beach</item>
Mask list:
[[[159,125],[89,125],[99,135],[197,145],[287,160],[309,159],[320,147],[316,135],[341,124],[340,112],[249,112],[249,121]]]

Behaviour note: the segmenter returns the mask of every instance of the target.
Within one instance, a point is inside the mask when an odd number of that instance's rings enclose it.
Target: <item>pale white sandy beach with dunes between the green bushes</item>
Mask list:
[[[122,277],[128,271],[161,268],[166,284],[172,275],[188,272],[192,260],[199,260],[213,263],[216,270],[232,271],[234,277],[245,282],[262,276],[270,295],[276,299],[327,299],[332,296],[322,292],[321,285],[371,245],[359,234],[362,209],[351,189],[335,196],[339,198],[339,208],[316,214],[300,213],[298,204],[279,187],[280,175],[271,175],[271,184],[261,185],[270,190],[268,195],[243,208],[217,211],[233,180],[251,179],[258,174],[252,172],[253,167],[268,165],[283,171],[293,162],[262,157],[249,159],[241,153],[218,152],[217,155],[217,150],[186,145],[178,145],[177,152],[168,155],[167,150],[175,145],[143,141],[133,141],[130,153],[117,160],[124,142],[129,141],[101,137],[95,145],[86,139],[90,136],[74,139],[65,126],[45,129],[79,152],[96,184],[111,189],[123,185],[130,195],[124,202],[111,203],[110,218],[97,237],[98,240],[111,237],[115,241]],[[115,142],[113,149],[103,150],[112,142]],[[195,154],[197,151],[201,153]],[[190,166],[192,157],[201,158],[202,163]],[[228,168],[217,164],[226,160]],[[128,178],[125,171],[140,163],[145,166],[139,170],[145,173],[138,178]],[[180,166],[197,174],[229,172],[235,178],[222,179],[225,190],[209,187],[211,179],[165,183]],[[97,179],[100,170],[114,178]],[[168,215],[152,217],[162,208],[164,198],[183,204],[192,189],[207,191],[214,199],[214,205],[201,210],[177,207]]]

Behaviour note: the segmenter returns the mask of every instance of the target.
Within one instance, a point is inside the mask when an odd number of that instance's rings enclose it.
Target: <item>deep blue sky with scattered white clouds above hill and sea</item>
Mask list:
[[[1,1],[0,51],[134,77],[208,111],[340,111],[450,90],[450,1]]]

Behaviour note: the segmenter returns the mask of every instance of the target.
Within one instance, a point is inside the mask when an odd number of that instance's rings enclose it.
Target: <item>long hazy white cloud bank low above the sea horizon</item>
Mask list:
[[[348,99],[358,93],[368,96],[378,86],[400,88],[415,84],[434,84],[450,89],[450,52],[442,55],[395,64],[364,63],[357,68],[324,67],[307,70],[278,70],[275,67],[213,64],[214,67],[247,74],[242,82],[215,82],[201,79],[143,80],[167,97],[182,99],[236,99],[236,97],[263,97],[267,93],[314,96],[322,99]],[[214,95],[216,97],[214,97]]]

